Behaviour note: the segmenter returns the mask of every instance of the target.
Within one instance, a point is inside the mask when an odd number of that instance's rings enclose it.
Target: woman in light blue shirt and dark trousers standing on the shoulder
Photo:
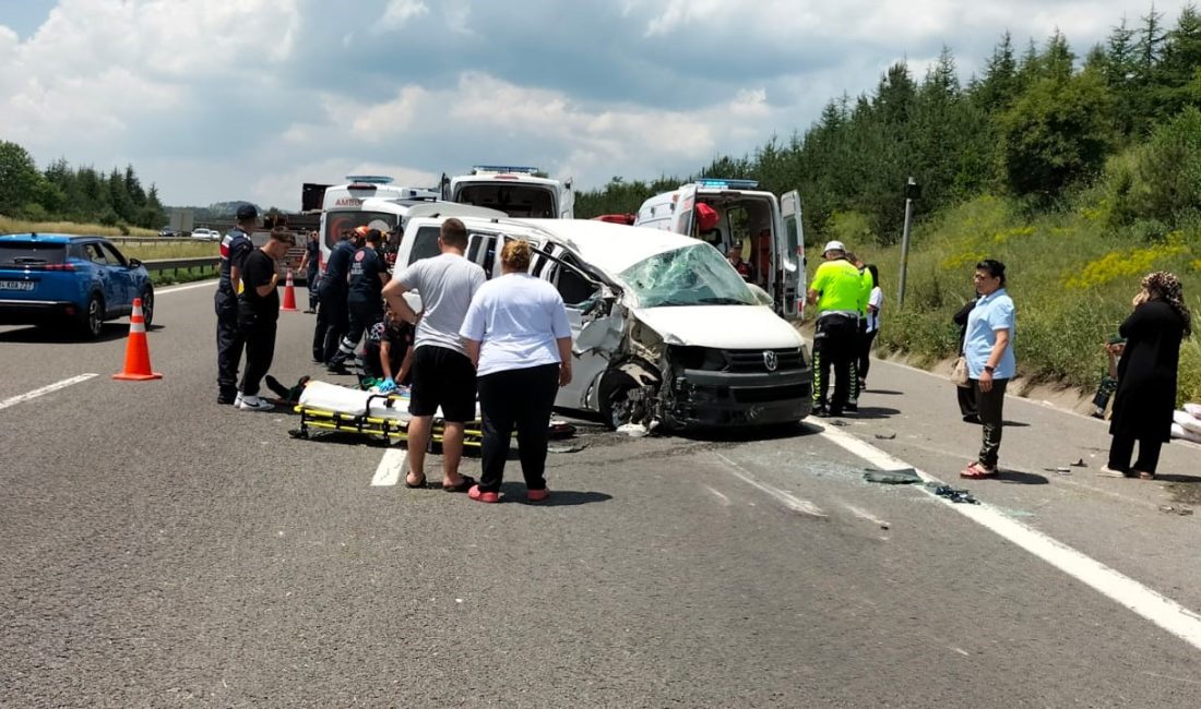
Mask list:
[[[968,314],[963,356],[976,395],[980,416],[980,456],[960,476],[988,477],[997,474],[1000,431],[1004,426],[1005,386],[1016,374],[1014,360],[1014,300],[1005,292],[1005,264],[985,259],[973,277],[980,299]]]

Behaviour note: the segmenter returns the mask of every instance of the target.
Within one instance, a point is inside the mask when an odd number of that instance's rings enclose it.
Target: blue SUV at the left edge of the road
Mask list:
[[[0,325],[73,325],[86,338],[104,320],[133,312],[142,299],[147,326],[154,286],[145,266],[102,236],[0,236]]]

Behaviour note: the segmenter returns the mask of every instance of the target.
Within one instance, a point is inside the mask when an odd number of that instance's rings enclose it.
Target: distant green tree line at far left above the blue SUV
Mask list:
[[[133,166],[104,173],[59,158],[38,170],[28,150],[7,140],[0,140],[0,215],[147,229],[167,223],[157,187],[144,187]]]

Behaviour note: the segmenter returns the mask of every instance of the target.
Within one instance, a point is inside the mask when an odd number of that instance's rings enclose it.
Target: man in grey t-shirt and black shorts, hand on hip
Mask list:
[[[464,425],[476,420],[476,367],[467,357],[459,329],[476,290],[488,280],[484,269],[464,258],[467,228],[455,218],[442,222],[440,256],[419,259],[396,271],[383,296],[401,320],[417,325],[413,337],[413,385],[408,403],[408,487],[425,487],[425,447],[434,414],[441,407],[442,489],[467,492],[474,480],[459,474]],[[422,317],[404,294],[422,296]]]

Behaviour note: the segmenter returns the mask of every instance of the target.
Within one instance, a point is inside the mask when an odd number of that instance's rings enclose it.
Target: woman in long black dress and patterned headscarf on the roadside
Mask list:
[[[1159,449],[1171,438],[1181,341],[1191,332],[1179,280],[1167,271],[1146,276],[1134,298],[1134,312],[1119,330],[1127,344],[1118,362],[1118,391],[1110,420],[1113,441],[1103,473],[1155,479]],[[1130,465],[1135,440],[1139,458]]]

